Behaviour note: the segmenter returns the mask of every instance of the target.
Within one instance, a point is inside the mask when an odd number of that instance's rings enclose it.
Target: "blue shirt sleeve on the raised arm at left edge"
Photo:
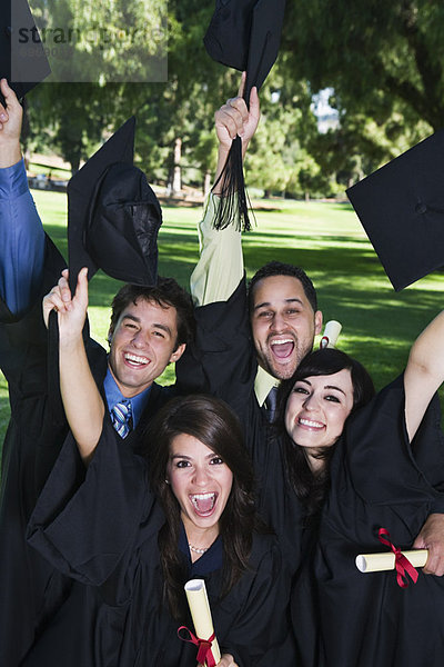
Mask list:
[[[44,260],[44,231],[23,160],[0,169],[0,297],[14,315],[32,305]]]

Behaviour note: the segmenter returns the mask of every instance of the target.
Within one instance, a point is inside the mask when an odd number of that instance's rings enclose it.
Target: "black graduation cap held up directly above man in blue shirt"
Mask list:
[[[88,267],[124,282],[155,285],[157,238],[162,225],[159,200],[147,177],[133,166],[132,117],[68,183],[70,288]]]

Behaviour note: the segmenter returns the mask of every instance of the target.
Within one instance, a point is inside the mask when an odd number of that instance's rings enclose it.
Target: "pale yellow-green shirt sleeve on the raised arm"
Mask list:
[[[190,278],[195,306],[226,301],[243,277],[242,237],[235,225],[213,228],[220,198],[210,195],[199,223],[200,259]]]

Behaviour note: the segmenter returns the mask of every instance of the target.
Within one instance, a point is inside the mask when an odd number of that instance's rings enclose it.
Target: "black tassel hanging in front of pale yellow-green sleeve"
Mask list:
[[[222,188],[220,205],[213,223],[214,229],[225,229],[229,225],[235,223],[239,230],[250,231],[249,208],[251,209],[251,203],[245,192],[242,166],[242,140],[240,137],[236,137],[231,145],[226,162],[212,189],[219,182],[222,182]],[[236,196],[238,207],[235,201]]]

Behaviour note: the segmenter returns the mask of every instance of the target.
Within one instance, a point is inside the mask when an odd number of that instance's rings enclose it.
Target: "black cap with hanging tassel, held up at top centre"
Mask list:
[[[249,103],[253,86],[258,90],[278,58],[285,0],[216,0],[215,11],[203,39],[208,53],[222,64],[246,70],[243,98]],[[236,137],[221,173],[222,201],[215,227],[226,227],[233,218],[238,193],[244,229],[250,229],[242,170],[242,142]]]

